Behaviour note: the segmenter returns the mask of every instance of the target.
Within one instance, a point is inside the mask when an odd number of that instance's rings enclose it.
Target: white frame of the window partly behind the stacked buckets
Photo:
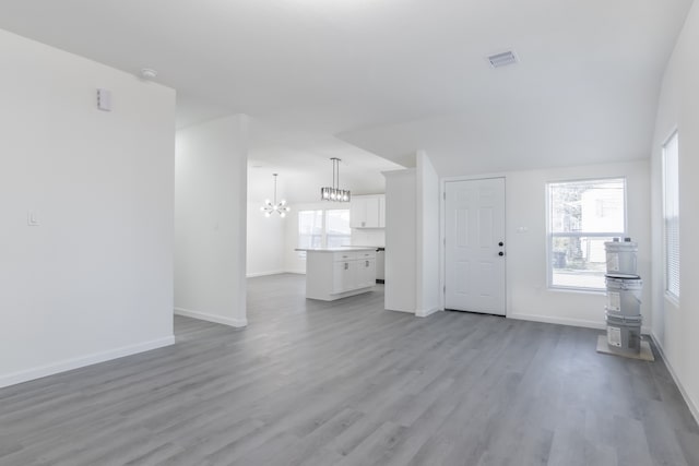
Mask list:
[[[594,181],[612,181],[620,180],[624,183],[624,231],[602,231],[602,232],[585,232],[585,231],[568,231],[556,232],[553,231],[553,218],[552,218],[552,186],[565,184],[565,183],[583,183]],[[546,198],[546,286],[547,289],[553,291],[573,291],[573,292],[588,292],[588,294],[604,294],[606,288],[591,288],[584,286],[564,286],[554,285],[554,265],[553,265],[553,243],[554,238],[624,238],[628,231],[628,180],[626,176],[609,176],[609,177],[590,177],[590,178],[574,178],[547,181],[545,186]]]

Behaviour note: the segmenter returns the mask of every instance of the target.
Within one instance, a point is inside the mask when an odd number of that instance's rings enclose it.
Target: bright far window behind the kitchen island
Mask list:
[[[348,210],[298,212],[299,248],[339,248],[350,244],[351,237]]]

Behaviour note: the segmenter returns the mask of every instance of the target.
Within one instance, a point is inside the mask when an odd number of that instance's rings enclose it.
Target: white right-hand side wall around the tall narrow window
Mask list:
[[[676,382],[699,420],[699,4],[691,7],[667,64],[661,89],[652,148],[653,337],[661,345]],[[680,299],[665,297],[662,210],[662,145],[679,134]]]

